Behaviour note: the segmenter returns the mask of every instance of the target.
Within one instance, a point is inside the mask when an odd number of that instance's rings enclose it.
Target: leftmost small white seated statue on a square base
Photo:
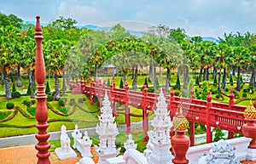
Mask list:
[[[61,126],[61,148],[55,149],[55,154],[60,160],[76,157],[77,154],[70,147],[70,139],[67,135],[67,127]]]

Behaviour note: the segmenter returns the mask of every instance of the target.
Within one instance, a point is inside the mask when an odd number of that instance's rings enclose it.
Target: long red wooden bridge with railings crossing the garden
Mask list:
[[[106,86],[106,82],[87,82],[70,83],[73,93],[85,93],[90,95],[90,104],[94,105],[93,97],[101,100],[107,91],[109,98],[112,100],[113,115],[116,116],[116,105],[118,102],[125,105],[125,122],[126,133],[131,133],[130,108],[134,106],[143,110],[143,130],[144,142],[148,141],[148,110],[154,110],[155,103],[158,101],[159,94],[148,93],[147,88],[143,85],[143,91],[129,90],[128,84],[125,83],[125,89],[115,88],[113,83],[110,88]],[[162,88],[163,93],[165,87]],[[101,101],[100,101],[101,102]],[[211,93],[208,92],[207,100],[195,99],[194,90],[190,90],[190,98],[180,98],[174,96],[173,90],[170,95],[166,95],[167,109],[170,111],[171,120],[177,115],[177,109],[180,104],[183,105],[183,115],[189,120],[189,138],[191,146],[195,145],[195,122],[207,126],[207,143],[212,142],[212,127],[218,127],[229,131],[229,139],[234,138],[234,133],[241,133],[241,127],[246,122],[243,111],[246,106],[234,105],[234,94],[230,91],[229,104],[212,102]],[[256,99],[253,104],[256,107]],[[172,129],[173,132],[173,129]],[[173,135],[173,133],[172,133]]]

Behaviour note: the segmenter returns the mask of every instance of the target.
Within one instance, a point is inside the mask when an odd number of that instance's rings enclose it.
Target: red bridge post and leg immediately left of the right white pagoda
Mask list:
[[[144,129],[144,139],[143,143],[148,143],[148,109],[146,106],[146,98],[148,96],[148,88],[143,85],[143,129]]]

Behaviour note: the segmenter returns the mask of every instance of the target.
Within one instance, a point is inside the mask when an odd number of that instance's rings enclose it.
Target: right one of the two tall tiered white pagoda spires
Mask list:
[[[147,154],[148,164],[166,164],[173,158],[170,151],[172,122],[162,90],[156,107],[156,110],[154,110],[155,117],[151,123],[154,130],[148,131],[149,140],[144,155]]]

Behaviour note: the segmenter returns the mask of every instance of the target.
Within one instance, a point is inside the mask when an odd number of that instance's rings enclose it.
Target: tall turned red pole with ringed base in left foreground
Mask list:
[[[37,24],[35,28],[35,40],[36,40],[36,59],[35,59],[35,77],[38,82],[38,93],[36,99],[38,105],[36,108],[36,120],[38,124],[38,133],[36,134],[36,139],[38,139],[38,144],[36,144],[36,150],[38,150],[38,164],[49,164],[49,148],[48,143],[49,133],[46,129],[49,127],[47,123],[48,110],[46,107],[46,95],[44,92],[44,82],[45,82],[45,67],[44,67],[44,56],[42,49],[42,27],[40,25],[40,17],[37,16]]]

